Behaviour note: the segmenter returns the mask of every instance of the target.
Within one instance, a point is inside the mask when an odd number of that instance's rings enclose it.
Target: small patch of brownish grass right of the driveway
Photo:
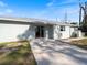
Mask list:
[[[83,39],[83,40],[78,40],[78,41],[72,41],[72,44],[87,50],[87,39]]]

